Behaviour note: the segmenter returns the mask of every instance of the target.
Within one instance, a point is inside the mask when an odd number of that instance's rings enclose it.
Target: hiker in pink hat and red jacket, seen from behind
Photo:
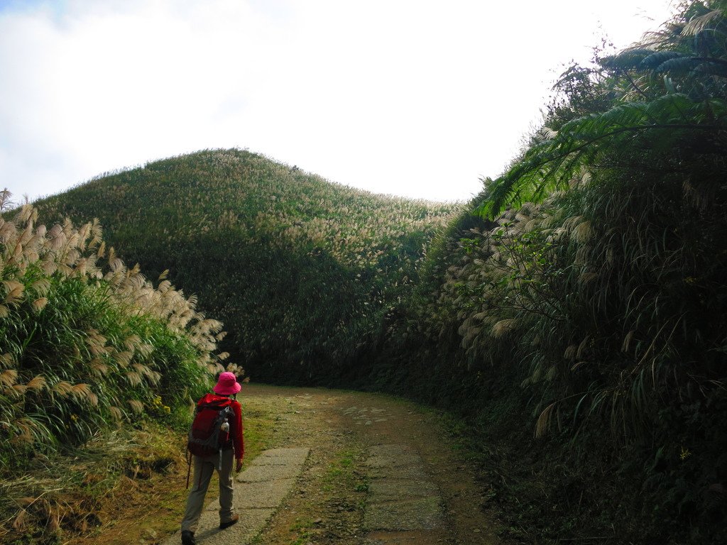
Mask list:
[[[217,384],[213,389],[214,394],[206,394],[197,402],[195,422],[202,411],[207,408],[217,408],[217,413],[220,413],[219,408],[226,407],[226,412],[230,414],[230,418],[225,418],[225,422],[222,424],[222,431],[225,432],[225,435],[220,439],[217,451],[204,456],[194,453],[195,450],[200,451],[194,449],[194,445],[192,445],[192,434],[195,426],[193,424],[188,448],[193,453],[194,485],[187,498],[187,509],[182,519],[182,545],[196,545],[194,533],[197,529],[202,507],[204,506],[204,496],[214,469],[217,469],[217,475],[220,477],[220,529],[228,528],[238,521],[238,515],[233,513],[232,469],[234,459],[235,471],[240,472],[244,454],[242,408],[236,400],[240,388],[235,374],[225,371],[217,379]],[[214,416],[216,417],[217,414]],[[217,424],[217,429],[219,428],[220,425]]]

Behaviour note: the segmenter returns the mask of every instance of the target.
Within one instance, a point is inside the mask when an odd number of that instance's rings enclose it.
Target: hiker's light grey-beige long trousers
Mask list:
[[[234,461],[235,451],[230,448],[222,451],[222,469],[217,471],[220,476],[220,523],[228,522],[232,518],[232,465]],[[220,464],[220,455],[214,456],[192,456],[192,464],[194,466],[194,483],[192,490],[189,491],[187,497],[187,509],[182,519],[182,532],[189,530],[195,532],[199,516],[204,507],[204,496],[209,487],[209,480],[212,479],[212,473]]]

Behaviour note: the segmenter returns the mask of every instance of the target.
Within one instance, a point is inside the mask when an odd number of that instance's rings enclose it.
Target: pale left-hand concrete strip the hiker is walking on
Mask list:
[[[200,545],[245,545],[265,527],[278,505],[293,488],[308,458],[309,448],[274,448],[264,451],[250,467],[236,477],[234,509],[240,515],[236,525],[220,530],[220,503],[210,502],[202,512],[195,538]],[[210,488],[216,486],[212,480]],[[212,493],[212,490],[208,491]],[[180,532],[163,545],[179,545]]]

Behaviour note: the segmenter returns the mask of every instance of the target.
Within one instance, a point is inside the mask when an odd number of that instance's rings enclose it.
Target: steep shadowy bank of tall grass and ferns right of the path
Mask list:
[[[692,2],[643,44],[569,70],[544,128],[453,222],[389,324],[387,373],[501,430],[487,439],[513,454],[550,458],[538,501],[569,502],[561,537],[585,539],[571,514],[603,496],[591,535],[725,538],[725,36],[726,3]],[[550,516],[538,501],[533,525]],[[631,528],[609,526],[621,517]]]

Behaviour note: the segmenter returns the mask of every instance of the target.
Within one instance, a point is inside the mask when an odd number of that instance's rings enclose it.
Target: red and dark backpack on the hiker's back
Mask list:
[[[214,394],[206,394],[197,403],[196,413],[189,430],[187,450],[196,456],[213,456],[220,453],[230,440],[230,424],[235,412],[232,400]]]

